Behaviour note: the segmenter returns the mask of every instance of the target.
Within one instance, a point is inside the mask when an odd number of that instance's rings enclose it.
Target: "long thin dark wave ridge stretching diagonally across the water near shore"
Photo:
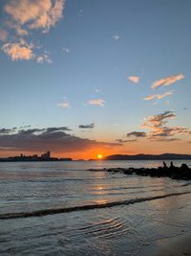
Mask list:
[[[169,198],[169,197],[175,197],[175,196],[181,196],[181,195],[187,195],[187,194],[191,194],[191,191],[166,194],[163,196],[156,196],[156,197],[150,197],[150,198],[135,198],[135,199],[129,199],[129,200],[122,200],[122,201],[105,202],[100,204],[86,204],[86,205],[72,206],[72,207],[66,207],[66,208],[38,210],[38,211],[32,211],[32,212],[7,213],[7,214],[0,214],[0,220],[21,219],[21,218],[30,218],[30,217],[44,217],[48,215],[69,213],[74,211],[86,211],[86,210],[114,207],[118,205],[129,205],[129,204],[134,204],[134,203],[143,202],[143,201],[156,200],[160,198]]]

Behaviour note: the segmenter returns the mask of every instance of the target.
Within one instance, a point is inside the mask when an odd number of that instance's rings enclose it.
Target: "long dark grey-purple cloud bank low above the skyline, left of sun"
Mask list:
[[[31,128],[19,130],[14,134],[0,134],[1,151],[86,151],[95,147],[112,148],[122,146],[120,143],[99,142],[80,138],[67,133],[63,128]]]

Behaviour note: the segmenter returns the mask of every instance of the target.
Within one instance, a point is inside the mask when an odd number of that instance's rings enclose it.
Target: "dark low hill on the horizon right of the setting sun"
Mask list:
[[[104,158],[104,160],[182,160],[191,159],[191,154],[180,153],[162,153],[162,154],[112,154]]]

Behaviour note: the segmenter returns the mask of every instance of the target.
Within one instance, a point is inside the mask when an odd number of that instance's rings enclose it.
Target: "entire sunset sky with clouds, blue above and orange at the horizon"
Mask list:
[[[0,156],[191,153],[190,0],[2,0]]]

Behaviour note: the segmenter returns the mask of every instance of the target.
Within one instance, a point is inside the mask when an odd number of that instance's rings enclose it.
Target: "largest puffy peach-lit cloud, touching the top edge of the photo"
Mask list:
[[[64,0],[10,0],[4,10],[19,26],[49,32],[62,17],[64,6]]]

